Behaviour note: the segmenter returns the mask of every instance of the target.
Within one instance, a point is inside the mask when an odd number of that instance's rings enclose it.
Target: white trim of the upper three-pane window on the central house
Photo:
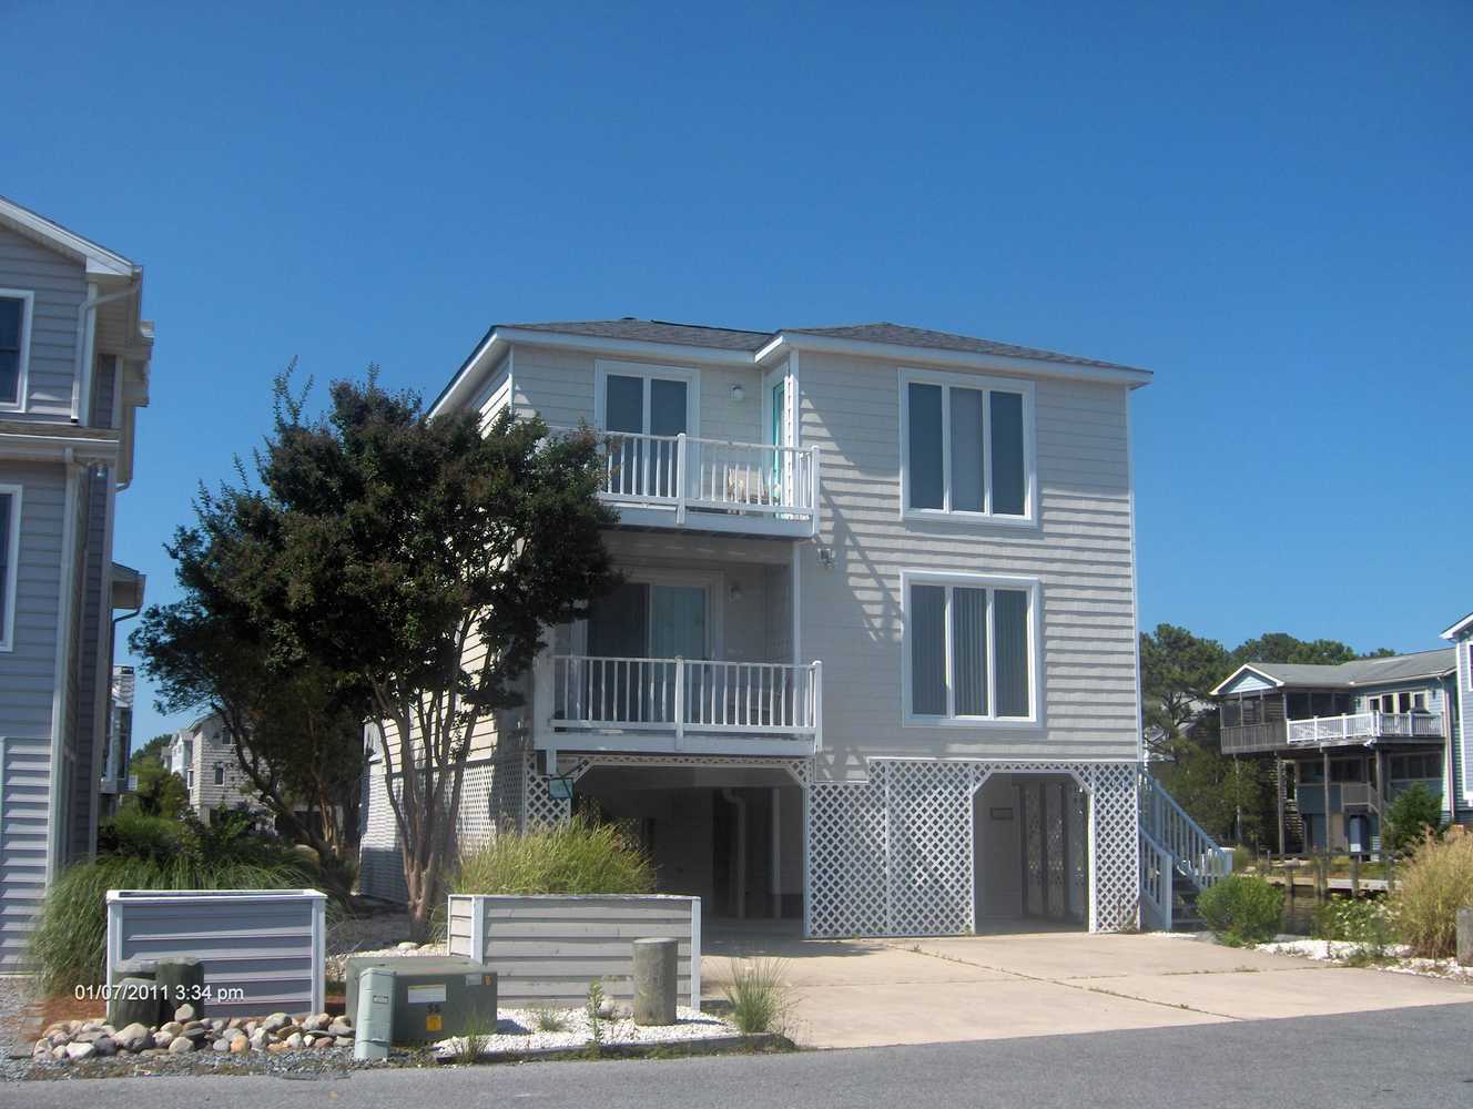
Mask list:
[[[949,374],[937,370],[915,370],[900,367],[900,518],[916,521],[938,521],[949,524],[985,524],[999,527],[1038,527],[1038,451],[1036,442],[1034,384],[1018,377],[981,377],[974,374]],[[991,455],[991,401],[982,402],[982,458],[987,465],[987,486],[982,504],[988,511],[971,513],[946,508],[910,507],[910,386],[937,384],[943,389],[975,389],[982,392],[1019,393],[1022,396],[1022,464],[1024,464],[1024,510],[1025,515],[996,515],[991,510],[993,455]],[[941,489],[944,504],[952,502],[952,399],[943,392],[941,401]]]

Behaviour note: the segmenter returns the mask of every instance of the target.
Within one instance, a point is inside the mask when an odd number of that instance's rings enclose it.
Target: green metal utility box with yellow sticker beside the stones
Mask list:
[[[354,956],[343,969],[348,1012],[358,1012],[358,975],[370,966],[393,974],[393,1043],[412,1047],[461,1035],[476,1021],[496,1031],[496,974],[474,959]]]

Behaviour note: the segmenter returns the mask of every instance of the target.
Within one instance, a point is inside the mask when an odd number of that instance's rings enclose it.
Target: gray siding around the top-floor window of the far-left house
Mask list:
[[[77,309],[87,299],[80,262],[0,228],[0,289],[35,293],[25,414],[68,418],[77,374]],[[7,412],[6,418],[18,418]],[[24,417],[21,417],[24,418]]]

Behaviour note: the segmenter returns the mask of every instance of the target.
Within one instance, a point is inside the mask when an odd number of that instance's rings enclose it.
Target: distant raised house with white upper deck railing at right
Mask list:
[[[1460,798],[1454,744],[1461,714],[1452,648],[1339,666],[1245,663],[1220,698],[1223,754],[1271,757],[1280,851],[1379,850],[1386,806],[1414,784]]]

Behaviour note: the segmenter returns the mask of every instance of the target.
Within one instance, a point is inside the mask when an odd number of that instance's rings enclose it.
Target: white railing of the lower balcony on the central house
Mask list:
[[[535,711],[552,730],[779,736],[822,742],[822,664],[552,655]]]

